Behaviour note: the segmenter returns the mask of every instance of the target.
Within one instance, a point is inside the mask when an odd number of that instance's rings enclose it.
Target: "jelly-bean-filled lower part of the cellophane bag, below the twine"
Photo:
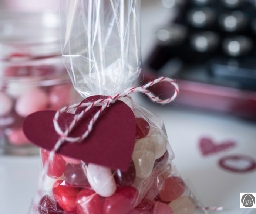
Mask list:
[[[197,204],[171,161],[161,118],[122,99],[136,119],[136,137],[127,171],[55,154],[41,148],[41,191],[37,210],[74,214],[193,214]],[[138,133],[141,133],[138,135]],[[200,212],[199,212],[200,213]]]

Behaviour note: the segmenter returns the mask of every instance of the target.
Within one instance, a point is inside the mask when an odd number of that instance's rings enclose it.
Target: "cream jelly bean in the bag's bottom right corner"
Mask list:
[[[191,197],[181,196],[169,203],[174,214],[193,214],[195,211],[195,202]]]

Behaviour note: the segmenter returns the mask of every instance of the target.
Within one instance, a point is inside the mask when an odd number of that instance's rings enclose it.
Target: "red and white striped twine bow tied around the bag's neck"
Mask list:
[[[169,82],[175,87],[175,92],[174,92],[174,94],[172,95],[171,98],[168,98],[166,100],[162,100],[158,96],[155,96],[150,91],[146,90],[148,87],[153,86],[156,83],[160,83],[160,82]],[[170,79],[170,78],[167,78],[167,77],[160,77],[160,78],[158,78],[158,79],[156,79],[152,82],[149,82],[149,83],[145,84],[144,86],[133,87],[133,88],[126,89],[126,90],[124,90],[124,92],[119,93],[119,94],[117,94],[113,97],[109,96],[106,99],[99,99],[99,100],[94,101],[94,102],[74,104],[74,105],[71,105],[71,106],[68,106],[68,107],[61,108],[59,111],[57,111],[57,113],[55,114],[54,119],[53,119],[54,128],[55,128],[56,132],[60,135],[60,139],[58,140],[58,142],[54,146],[54,152],[56,152],[58,150],[58,148],[60,148],[60,145],[64,141],[81,142],[83,139],[85,139],[90,134],[94,123],[97,121],[101,112],[104,111],[105,108],[108,107],[109,104],[113,104],[113,103],[115,103],[115,101],[117,101],[121,97],[125,97],[129,94],[136,93],[136,92],[145,93],[152,101],[154,101],[156,103],[166,104],[166,103],[170,103],[171,101],[173,101],[176,98],[176,96],[179,93],[179,87],[178,87],[178,84],[175,83],[175,81],[173,79]],[[73,108],[85,107],[85,106],[87,106],[87,108],[84,111],[82,111],[80,114],[75,115],[74,120],[71,122],[70,126],[67,128],[67,130],[65,130],[65,132],[63,132],[60,128],[60,125],[58,124],[58,118],[60,117],[60,114],[67,111],[67,110],[73,109]],[[79,137],[68,137],[68,134],[74,128],[75,124],[79,120],[81,120],[83,115],[94,106],[101,106],[101,108],[92,117],[91,121],[89,122],[88,128],[84,132],[84,134],[82,134]]]

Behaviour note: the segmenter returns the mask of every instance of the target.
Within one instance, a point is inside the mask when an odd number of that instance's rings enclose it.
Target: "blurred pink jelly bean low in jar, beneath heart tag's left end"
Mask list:
[[[22,128],[14,128],[7,135],[8,141],[16,146],[29,144],[28,139],[24,135]]]

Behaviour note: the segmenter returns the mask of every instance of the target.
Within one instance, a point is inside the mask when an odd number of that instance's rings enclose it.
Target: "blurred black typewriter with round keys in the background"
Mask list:
[[[178,78],[185,105],[256,119],[256,0],[163,0],[178,15],[156,33],[141,80]],[[152,88],[170,96],[169,85]]]

